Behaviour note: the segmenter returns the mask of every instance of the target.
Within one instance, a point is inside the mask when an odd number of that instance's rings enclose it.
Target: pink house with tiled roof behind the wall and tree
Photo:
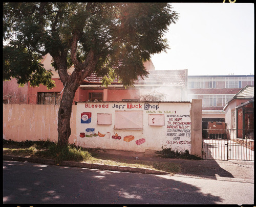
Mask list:
[[[24,97],[23,102],[16,99],[15,104],[59,104],[63,84],[58,73],[51,66],[52,57],[47,54],[42,60],[42,64],[53,74],[52,79],[56,87],[48,90],[46,86],[30,87],[30,84],[23,88],[18,88],[15,80],[4,82],[4,102],[13,101],[8,99],[8,95],[13,97]],[[118,79],[107,88],[101,86],[101,77],[95,74],[87,77],[83,84],[77,89],[74,104],[77,101],[138,101],[141,96],[149,93],[162,93],[165,97],[163,101],[186,101],[187,100],[187,69],[184,70],[155,70],[151,61],[144,63],[144,66],[150,74],[144,80],[139,78],[135,81],[134,87],[123,87],[118,83]],[[68,70],[71,74],[73,67]],[[5,98],[6,97],[6,98]]]

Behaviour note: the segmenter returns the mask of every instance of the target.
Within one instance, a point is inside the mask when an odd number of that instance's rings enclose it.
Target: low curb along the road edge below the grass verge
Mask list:
[[[19,162],[30,162],[30,163],[41,163],[47,165],[56,165],[54,160],[45,160],[40,158],[24,158],[17,156],[3,156],[3,160],[19,161]],[[157,174],[157,175],[168,175],[167,172],[151,170],[146,168],[135,168],[135,167],[124,167],[117,165],[102,165],[102,164],[91,164],[91,163],[79,163],[74,161],[62,161],[59,163],[59,166],[69,166],[69,167],[81,167],[89,169],[99,169],[99,170],[112,170],[112,171],[121,171],[121,172],[133,172],[141,174]]]

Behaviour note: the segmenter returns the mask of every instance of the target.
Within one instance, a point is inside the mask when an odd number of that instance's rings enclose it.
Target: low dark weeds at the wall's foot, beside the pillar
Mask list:
[[[172,148],[162,148],[161,151],[156,151],[162,158],[173,158],[173,159],[186,159],[186,160],[202,160],[200,157],[194,154],[189,154],[188,150],[179,152],[178,150],[172,150]]]

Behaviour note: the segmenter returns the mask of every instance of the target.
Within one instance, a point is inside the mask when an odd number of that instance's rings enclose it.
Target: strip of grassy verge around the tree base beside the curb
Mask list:
[[[75,146],[74,144],[69,144],[66,148],[58,148],[56,143],[49,140],[23,142],[3,140],[3,142],[3,154],[51,159],[55,160],[56,164],[60,163],[61,161],[75,161],[93,164],[147,168],[170,174],[175,174],[181,171],[181,166],[176,163],[123,159],[118,158],[118,156],[113,157],[108,155],[100,155],[98,153],[99,149],[82,148]]]

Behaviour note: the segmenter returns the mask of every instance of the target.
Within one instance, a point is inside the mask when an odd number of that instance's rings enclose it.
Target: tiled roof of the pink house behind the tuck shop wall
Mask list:
[[[160,85],[178,85],[186,86],[186,69],[184,70],[151,70],[148,71],[148,77],[138,77],[135,84],[160,84]],[[88,84],[101,84],[102,77],[97,77],[95,73],[86,77],[84,81]],[[117,77],[112,84],[118,84]]]

